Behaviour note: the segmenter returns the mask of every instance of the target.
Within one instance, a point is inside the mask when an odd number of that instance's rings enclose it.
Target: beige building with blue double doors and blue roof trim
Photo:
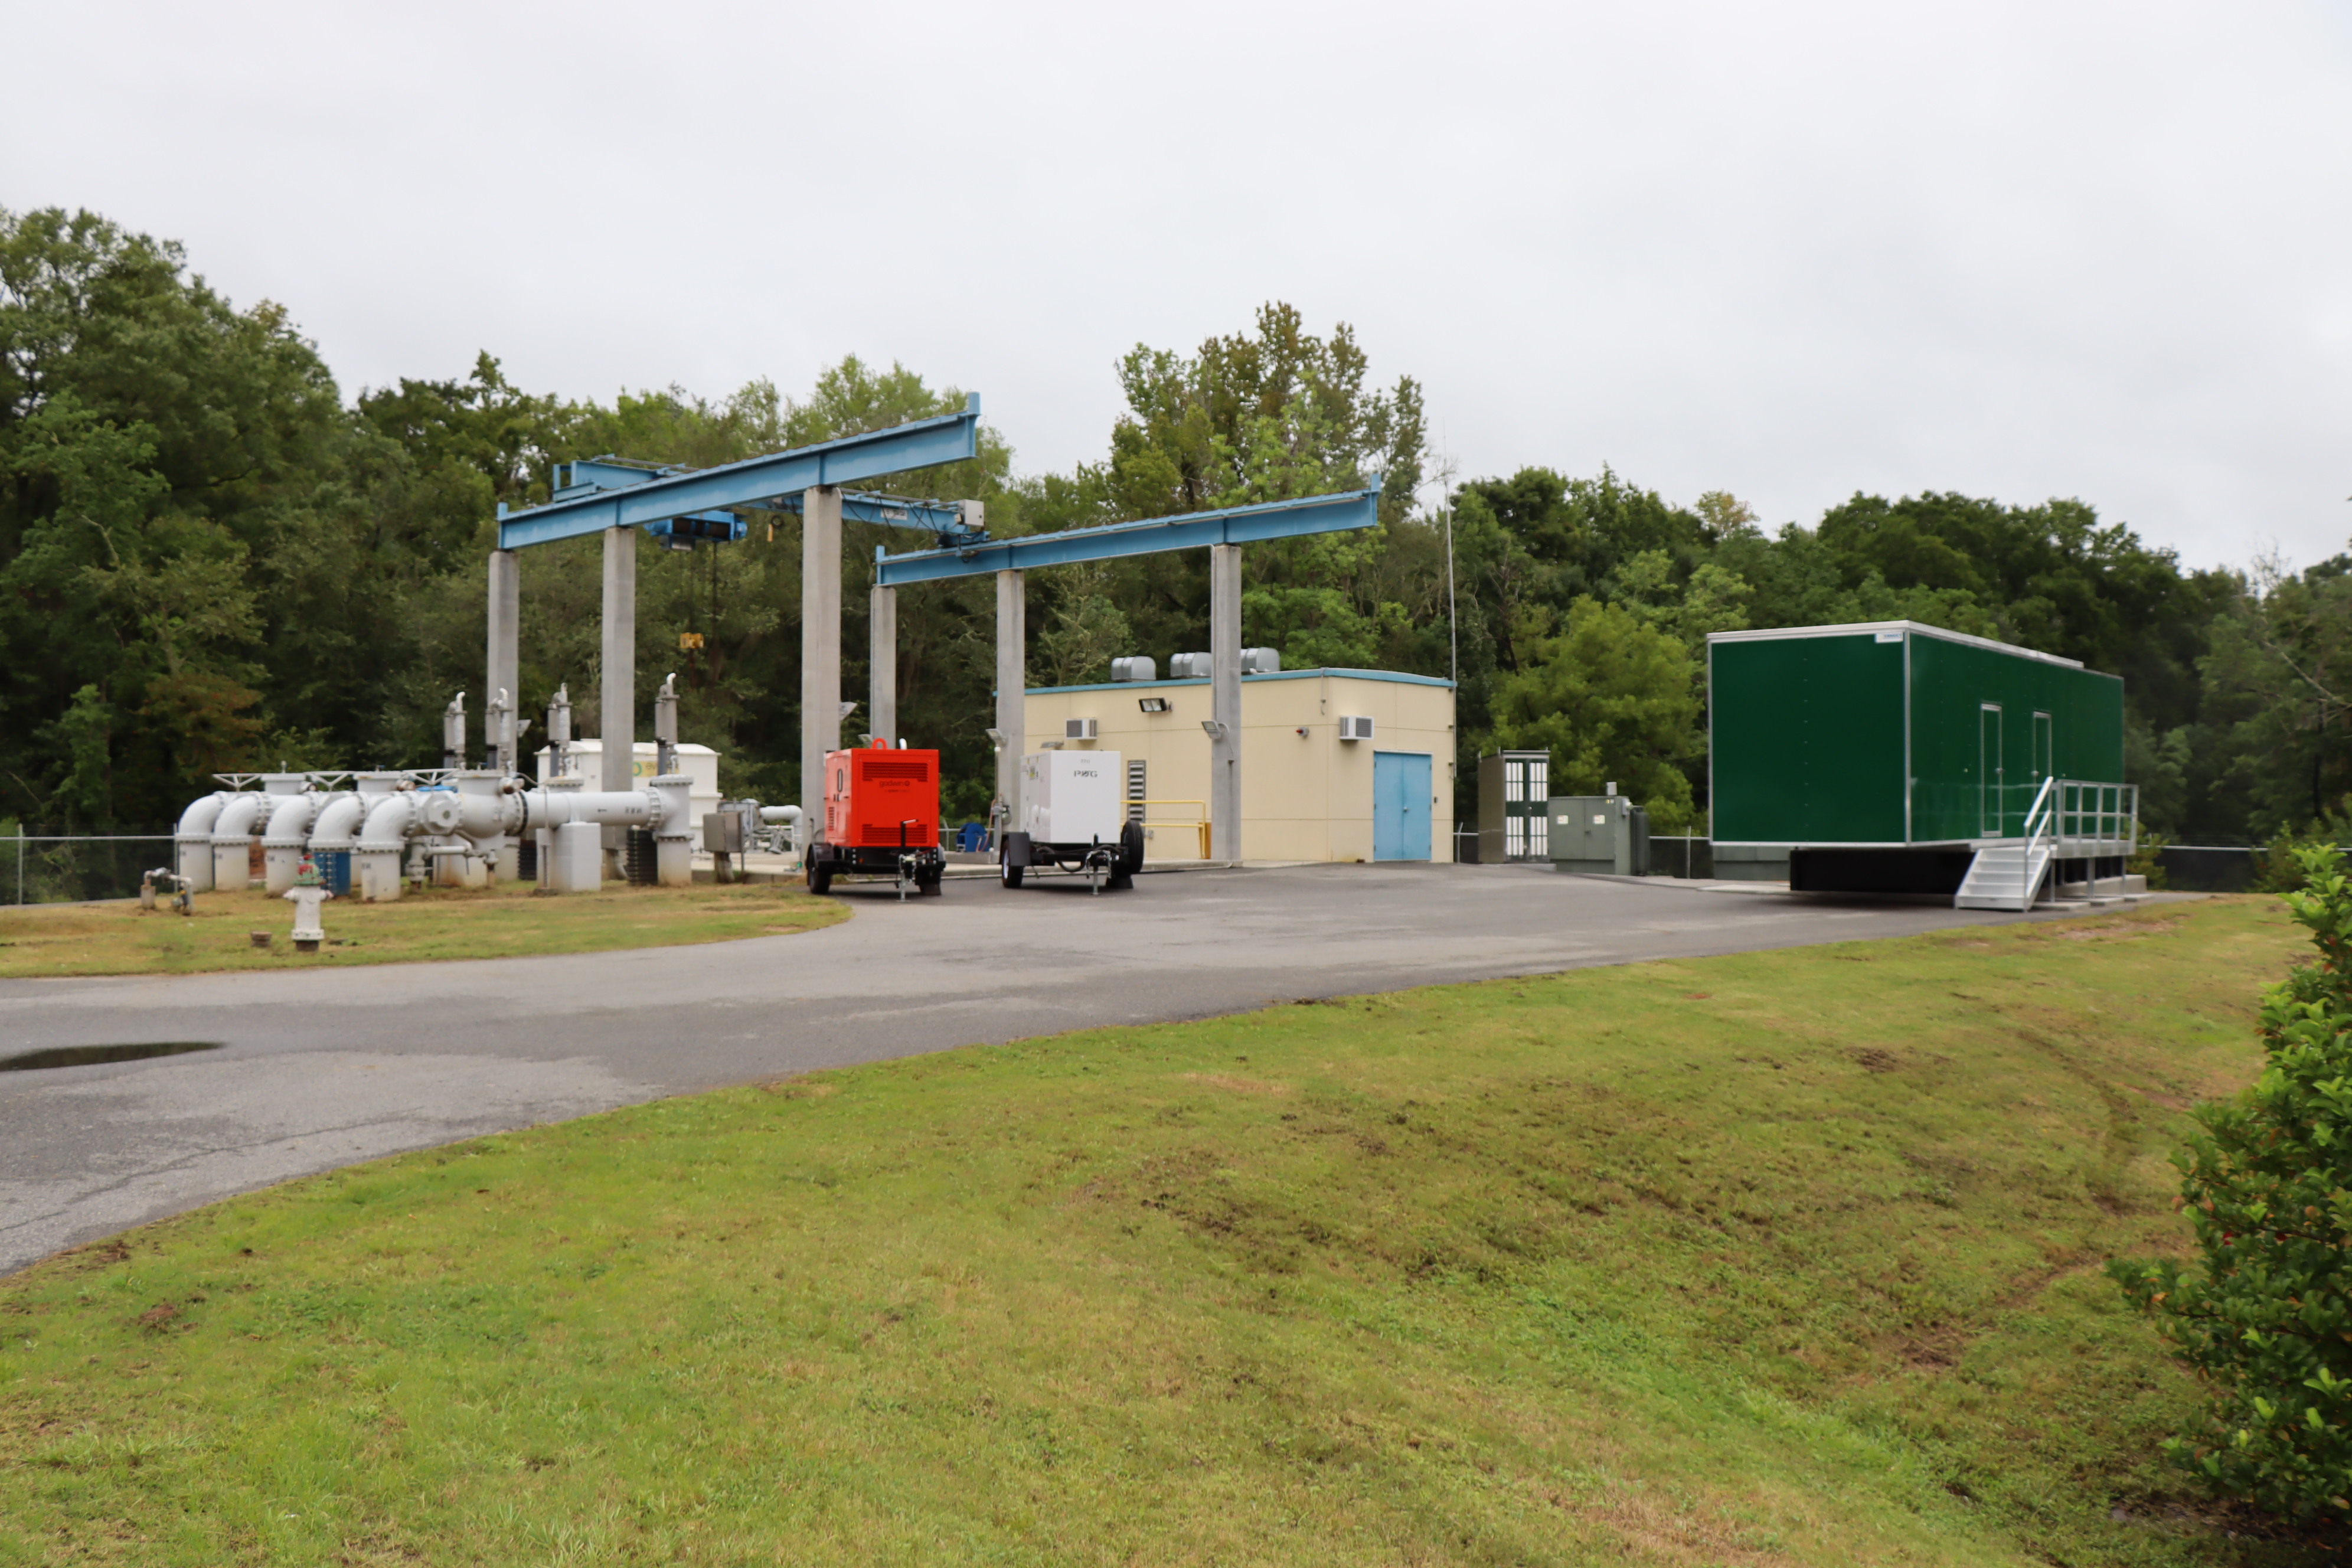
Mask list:
[[[1023,708],[1023,752],[1120,752],[1127,797],[1152,802],[1148,858],[1207,858],[1207,679],[1033,686]],[[1454,684],[1390,670],[1244,675],[1242,858],[1451,860]]]

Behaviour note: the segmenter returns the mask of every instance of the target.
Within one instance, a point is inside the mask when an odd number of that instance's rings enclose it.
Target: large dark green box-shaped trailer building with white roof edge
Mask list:
[[[1715,632],[1708,741],[1717,844],[1966,849],[2122,785],[2124,682],[1915,621]]]

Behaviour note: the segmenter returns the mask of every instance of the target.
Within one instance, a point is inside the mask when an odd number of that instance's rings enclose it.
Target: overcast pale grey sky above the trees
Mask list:
[[[2352,536],[2345,0],[0,0],[0,205],[183,240],[346,395],[856,353],[1035,473],[1101,456],[1129,346],[1284,299],[1463,477]]]

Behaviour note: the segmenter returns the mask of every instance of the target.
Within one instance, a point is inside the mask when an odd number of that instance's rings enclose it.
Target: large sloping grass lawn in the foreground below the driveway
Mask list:
[[[1592,969],[292,1182],[0,1281],[0,1561],[2298,1561],[2098,1272],[2296,950]]]

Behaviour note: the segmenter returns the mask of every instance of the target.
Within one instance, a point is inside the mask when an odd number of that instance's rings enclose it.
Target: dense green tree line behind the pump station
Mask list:
[[[1731,494],[1677,505],[1611,470],[1456,482],[1430,473],[1421,386],[1374,383],[1352,329],[1310,331],[1282,303],[1192,353],[1138,346],[1117,371],[1124,411],[1094,463],[1021,475],[983,428],[978,458],[875,489],[978,498],[990,531],[1033,534],[1378,475],[1381,527],[1249,550],[1247,639],[1287,668],[1458,670],[1458,769],[1548,745],[1557,788],[1618,780],[1665,830],[1705,823],[1708,632],[1879,618],[2122,675],[2129,776],[2161,832],[2343,827],[2352,555],[2185,571],[2082,501],[1858,494],[1766,531]],[[0,209],[0,820],[153,825],[216,771],[433,764],[449,696],[482,710],[496,503],[546,498],[553,463],[710,465],[960,407],[960,388],[856,357],[807,395],[753,381],[604,404],[517,388],[489,353],[346,400],[280,306],[235,308],[179,244]],[[844,536],[858,696],[873,548],[915,541]],[[793,799],[797,524],[640,550],[640,710],[675,670],[682,733],[724,755],[724,785]],[[1204,649],[1197,555],[1033,574],[1030,679]],[[527,717],[567,684],[597,731],[597,541],[522,555]],[[950,811],[978,813],[990,585],[903,590],[898,628],[901,729],[946,752]]]

